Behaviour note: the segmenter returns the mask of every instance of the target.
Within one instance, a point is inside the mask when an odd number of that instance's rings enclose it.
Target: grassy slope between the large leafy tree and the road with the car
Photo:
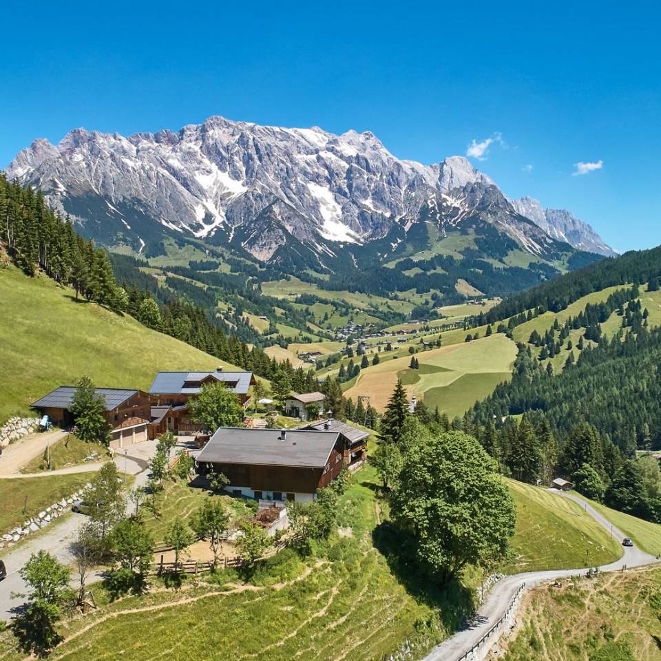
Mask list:
[[[537,569],[573,569],[614,562],[617,540],[578,505],[542,487],[508,480],[518,512],[508,574]]]

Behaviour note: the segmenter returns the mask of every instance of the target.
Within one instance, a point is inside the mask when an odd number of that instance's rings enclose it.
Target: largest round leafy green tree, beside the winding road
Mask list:
[[[516,507],[496,470],[463,432],[423,437],[404,458],[392,511],[441,583],[466,565],[487,567],[507,551]]]

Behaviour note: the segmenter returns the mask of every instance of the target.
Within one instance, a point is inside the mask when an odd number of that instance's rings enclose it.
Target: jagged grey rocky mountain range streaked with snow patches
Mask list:
[[[57,145],[35,140],[6,174],[41,186],[93,238],[138,253],[179,235],[323,271],[345,249],[370,246],[387,260],[426,222],[441,237],[488,224],[544,260],[570,250],[565,244],[613,254],[568,211],[544,211],[532,198],[510,202],[466,158],[401,160],[369,131],[335,135],[218,116],[129,137],[74,129]]]

